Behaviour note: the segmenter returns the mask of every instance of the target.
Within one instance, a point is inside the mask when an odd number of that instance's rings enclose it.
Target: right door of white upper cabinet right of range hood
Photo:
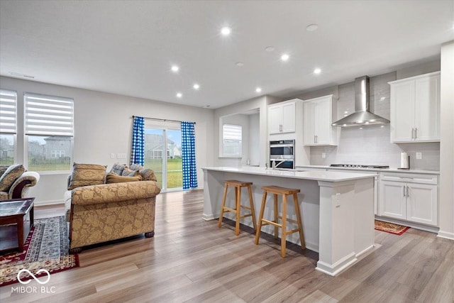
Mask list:
[[[440,140],[440,75],[415,82],[415,141]]]

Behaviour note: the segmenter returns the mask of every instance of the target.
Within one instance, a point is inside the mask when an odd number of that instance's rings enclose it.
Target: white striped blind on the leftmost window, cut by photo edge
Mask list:
[[[0,133],[17,131],[17,94],[0,89]]]

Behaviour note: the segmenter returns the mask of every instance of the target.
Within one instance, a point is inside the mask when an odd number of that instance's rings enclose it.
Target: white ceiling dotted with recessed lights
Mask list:
[[[319,29],[306,31],[311,23]],[[437,59],[453,24],[453,0],[1,0],[0,74],[218,108]],[[270,45],[274,52],[265,51]]]

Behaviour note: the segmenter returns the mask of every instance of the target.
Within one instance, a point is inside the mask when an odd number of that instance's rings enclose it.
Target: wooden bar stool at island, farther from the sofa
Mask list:
[[[303,235],[303,226],[301,225],[301,213],[299,212],[299,202],[298,202],[298,195],[297,193],[300,192],[299,189],[292,189],[292,188],[285,188],[285,187],[278,187],[275,185],[264,186],[263,189],[263,198],[262,198],[262,206],[260,207],[260,214],[258,217],[258,228],[257,233],[255,233],[255,245],[258,245],[258,240],[260,238],[260,230],[262,226],[272,224],[275,226],[275,238],[277,238],[278,230],[277,228],[282,228],[282,236],[281,236],[281,256],[285,258],[285,243],[286,237],[290,233],[299,232],[299,240],[301,241],[301,248],[305,249],[306,244],[304,243],[304,235]],[[267,194],[274,194],[275,198],[275,221],[270,221],[267,219],[263,219],[263,213],[265,211],[265,202],[267,199]],[[279,216],[279,212],[277,209],[277,195],[282,195],[282,216]],[[297,220],[287,218],[287,196],[293,195],[294,204],[295,204],[295,212],[297,213]],[[278,219],[282,220],[282,224],[279,224]],[[297,229],[293,229],[292,231],[287,231],[287,221],[292,222],[298,225]]]

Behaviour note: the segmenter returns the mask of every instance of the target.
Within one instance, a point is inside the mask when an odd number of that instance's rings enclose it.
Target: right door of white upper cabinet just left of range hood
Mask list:
[[[316,144],[331,144],[331,98],[318,101],[315,104],[315,136]]]

